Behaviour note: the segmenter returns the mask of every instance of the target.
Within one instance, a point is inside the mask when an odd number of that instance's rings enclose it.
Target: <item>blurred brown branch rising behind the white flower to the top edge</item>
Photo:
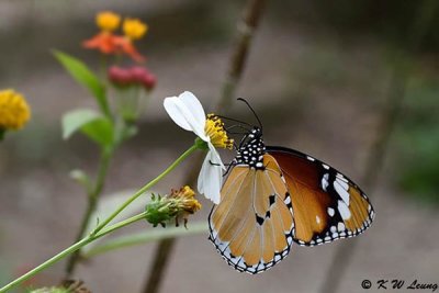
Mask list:
[[[216,106],[216,111],[225,111],[232,104],[232,99],[235,95],[236,88],[239,83],[240,77],[243,76],[251,40],[260,22],[264,5],[266,0],[248,0],[246,3],[243,19],[237,25],[238,34],[230,55],[226,80],[223,84],[222,95]],[[184,182],[190,182],[192,183],[191,185],[194,184],[202,159],[202,156],[198,157],[193,168],[188,172]],[[168,264],[175,243],[176,238],[170,238],[161,240],[158,244],[153,262],[154,267],[150,269],[147,282],[143,290],[144,293],[156,293],[160,290],[162,274]]]

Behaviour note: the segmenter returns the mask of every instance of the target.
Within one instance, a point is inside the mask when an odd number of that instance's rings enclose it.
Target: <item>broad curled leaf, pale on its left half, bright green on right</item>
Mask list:
[[[90,109],[77,109],[63,116],[63,138],[68,139],[80,131],[102,147],[113,144],[113,123]]]

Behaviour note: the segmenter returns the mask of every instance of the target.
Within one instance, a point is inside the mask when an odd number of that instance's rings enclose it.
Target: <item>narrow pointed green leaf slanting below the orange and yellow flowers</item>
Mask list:
[[[105,87],[99,78],[81,60],[59,50],[53,50],[53,54],[70,76],[93,94],[103,113],[109,115],[110,108],[105,95]]]

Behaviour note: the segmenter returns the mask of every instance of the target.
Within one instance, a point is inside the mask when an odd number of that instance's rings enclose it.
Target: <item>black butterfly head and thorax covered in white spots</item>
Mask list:
[[[235,161],[237,165],[248,165],[250,168],[263,169],[263,154],[266,154],[266,145],[262,139],[262,129],[254,126],[243,137]]]

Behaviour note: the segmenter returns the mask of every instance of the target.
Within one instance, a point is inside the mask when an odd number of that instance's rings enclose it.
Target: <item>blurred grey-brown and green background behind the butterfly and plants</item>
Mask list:
[[[113,10],[149,24],[139,44],[158,86],[139,135],[112,162],[105,193],[135,189],[193,140],[169,120],[162,99],[191,90],[206,109],[216,104],[244,4],[0,0],[0,88],[24,93],[33,111],[25,129],[8,134],[0,145],[0,283],[71,244],[86,196],[68,173],[75,168],[95,171],[95,146],[80,135],[64,142],[60,129],[63,113],[93,106],[94,101],[67,76],[50,49],[97,65],[97,54],[80,43],[95,33],[98,11]],[[359,185],[365,181],[367,166],[376,166],[378,181],[369,192],[376,219],[358,238],[351,261],[340,261],[348,268],[339,292],[363,292],[364,279],[439,283],[436,7],[435,1],[268,1],[254,40],[237,97],[258,112],[266,143],[320,158]],[[386,122],[389,108],[399,109],[394,125]],[[252,121],[239,103],[229,111]],[[382,136],[389,145],[383,162],[375,162],[370,154]],[[179,187],[188,166],[156,190]],[[194,218],[206,219],[210,209],[203,201]],[[132,229],[146,228],[150,227],[140,223]],[[172,252],[161,292],[322,292],[341,243],[295,246],[272,270],[249,275],[228,267],[207,235],[183,237]],[[99,256],[81,264],[77,277],[93,292],[140,292],[154,269],[155,246]],[[37,275],[35,284],[57,283],[63,269],[64,263],[52,267]]]

